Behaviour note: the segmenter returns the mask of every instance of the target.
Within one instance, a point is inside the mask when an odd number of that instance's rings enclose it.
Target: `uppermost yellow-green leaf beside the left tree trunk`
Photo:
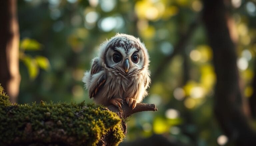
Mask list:
[[[40,50],[42,45],[38,43],[34,39],[29,39],[25,38],[21,41],[20,43],[20,48],[23,50],[30,50],[30,51],[35,51],[35,50]]]

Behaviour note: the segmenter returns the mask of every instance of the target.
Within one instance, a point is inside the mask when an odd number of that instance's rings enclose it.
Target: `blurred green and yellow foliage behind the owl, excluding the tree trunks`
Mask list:
[[[237,65],[245,97],[256,55],[254,1],[231,0],[230,32],[237,45]],[[150,54],[150,70],[173,53],[175,45],[198,21],[199,0],[20,0],[19,102],[92,102],[81,81],[101,42],[115,33],[140,37]],[[153,133],[193,145],[225,144],[228,139],[215,120],[213,53],[201,23],[181,54],[174,56],[151,84],[143,102],[157,112],[133,115],[125,142]],[[24,66],[25,65],[25,66]],[[27,71],[27,69],[28,71]],[[39,68],[43,69],[39,73]]]

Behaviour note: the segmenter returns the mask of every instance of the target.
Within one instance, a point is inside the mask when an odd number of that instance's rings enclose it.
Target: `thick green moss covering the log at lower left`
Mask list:
[[[12,104],[0,86],[0,144],[58,143],[118,145],[124,138],[119,116],[103,106],[81,103]]]

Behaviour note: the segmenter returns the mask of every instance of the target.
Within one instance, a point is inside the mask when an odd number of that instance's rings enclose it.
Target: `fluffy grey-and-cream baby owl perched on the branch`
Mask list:
[[[134,109],[148,94],[149,62],[148,51],[138,38],[116,34],[101,44],[91,70],[84,73],[89,97],[98,104],[120,108],[126,101]]]

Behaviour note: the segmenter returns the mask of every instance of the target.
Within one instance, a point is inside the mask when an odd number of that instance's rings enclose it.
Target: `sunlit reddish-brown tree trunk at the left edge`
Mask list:
[[[0,83],[14,103],[20,85],[16,0],[0,1],[0,19]]]

